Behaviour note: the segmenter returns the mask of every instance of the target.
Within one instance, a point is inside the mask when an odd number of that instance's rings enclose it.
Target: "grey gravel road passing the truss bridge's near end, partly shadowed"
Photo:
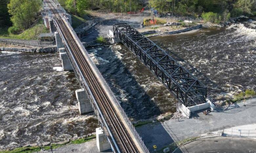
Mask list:
[[[181,119],[179,122],[168,120],[137,127],[136,130],[142,137],[145,145],[153,150],[152,146],[162,148],[174,141],[196,137],[208,131],[223,130],[247,124],[255,124],[256,99],[248,99],[246,106],[243,102],[233,104],[224,112],[213,111],[209,115],[203,115],[202,111],[192,114],[190,119]],[[255,152],[256,153],[256,152]]]

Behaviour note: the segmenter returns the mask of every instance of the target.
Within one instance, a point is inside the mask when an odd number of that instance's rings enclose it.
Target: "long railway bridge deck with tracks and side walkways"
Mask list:
[[[114,153],[149,153],[108,84],[90,59],[71,25],[60,15],[52,0],[46,0],[80,85],[85,89],[94,112]]]

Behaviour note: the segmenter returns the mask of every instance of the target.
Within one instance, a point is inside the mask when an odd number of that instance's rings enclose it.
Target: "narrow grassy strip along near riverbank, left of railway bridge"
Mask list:
[[[58,148],[58,147],[61,147],[63,145],[67,145],[67,144],[81,144],[81,143],[85,143],[85,142],[91,141],[94,138],[96,138],[96,135],[91,135],[88,138],[81,138],[81,139],[73,140],[73,141],[70,141],[69,143],[66,143],[66,144],[61,144],[61,145],[51,144],[51,146],[52,146],[53,149],[55,149],[55,148]],[[50,150],[51,149],[50,146],[43,146],[42,148],[44,150]],[[0,153],[32,153],[32,152],[36,152],[36,151],[40,151],[40,150],[41,150],[40,146],[30,146],[30,147],[15,148],[15,149],[13,149],[11,151],[4,150],[4,151],[0,151]]]

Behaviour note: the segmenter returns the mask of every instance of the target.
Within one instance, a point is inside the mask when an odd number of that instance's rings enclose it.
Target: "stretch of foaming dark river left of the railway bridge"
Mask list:
[[[94,132],[92,115],[80,116],[73,72],[58,54],[0,52],[0,148],[59,142]],[[53,69],[54,68],[54,69]]]

